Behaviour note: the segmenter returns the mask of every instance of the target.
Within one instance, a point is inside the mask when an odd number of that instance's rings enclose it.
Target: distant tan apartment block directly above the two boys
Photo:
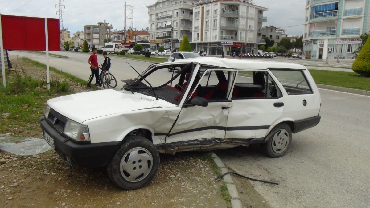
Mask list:
[[[113,38],[113,26],[108,23],[97,23],[96,25],[85,25],[85,40],[89,46],[101,48],[104,46],[105,38]]]

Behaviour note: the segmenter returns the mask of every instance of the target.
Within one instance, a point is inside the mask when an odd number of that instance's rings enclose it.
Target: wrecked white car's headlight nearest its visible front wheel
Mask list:
[[[70,119],[65,123],[63,133],[76,141],[90,141],[87,125],[83,125]]]

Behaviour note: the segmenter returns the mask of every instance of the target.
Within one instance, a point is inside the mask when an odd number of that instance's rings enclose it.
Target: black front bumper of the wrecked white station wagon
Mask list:
[[[71,166],[102,167],[121,145],[120,141],[93,144],[78,144],[55,130],[44,118],[40,120],[41,130],[54,139],[55,151]]]

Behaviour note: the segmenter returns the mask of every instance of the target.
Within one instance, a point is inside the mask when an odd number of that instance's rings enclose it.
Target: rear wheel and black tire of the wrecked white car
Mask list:
[[[287,124],[276,125],[268,137],[270,139],[262,144],[262,147],[265,148],[266,154],[272,158],[283,156],[292,144],[292,130]]]

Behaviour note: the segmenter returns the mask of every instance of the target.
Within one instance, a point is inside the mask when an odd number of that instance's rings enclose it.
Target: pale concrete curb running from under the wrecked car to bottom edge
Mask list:
[[[211,152],[211,155],[216,165],[221,169],[221,174],[229,172],[221,159],[214,152]],[[223,181],[225,181],[226,186],[228,187],[229,194],[231,196],[231,207],[243,208],[243,203],[240,200],[238,189],[236,188],[236,185],[232,180],[230,174],[223,176]]]

